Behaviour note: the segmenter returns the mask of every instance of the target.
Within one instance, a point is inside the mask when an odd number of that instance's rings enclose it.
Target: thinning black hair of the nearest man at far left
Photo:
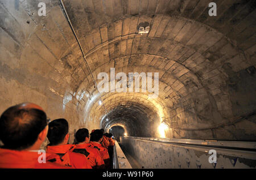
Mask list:
[[[0,117],[0,139],[3,148],[23,150],[31,147],[47,126],[46,113],[18,104],[6,109]]]

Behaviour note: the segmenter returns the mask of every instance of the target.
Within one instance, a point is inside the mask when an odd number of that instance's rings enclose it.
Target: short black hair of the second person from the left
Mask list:
[[[58,145],[63,142],[68,134],[68,121],[66,119],[55,119],[49,123],[47,138],[48,145]]]

